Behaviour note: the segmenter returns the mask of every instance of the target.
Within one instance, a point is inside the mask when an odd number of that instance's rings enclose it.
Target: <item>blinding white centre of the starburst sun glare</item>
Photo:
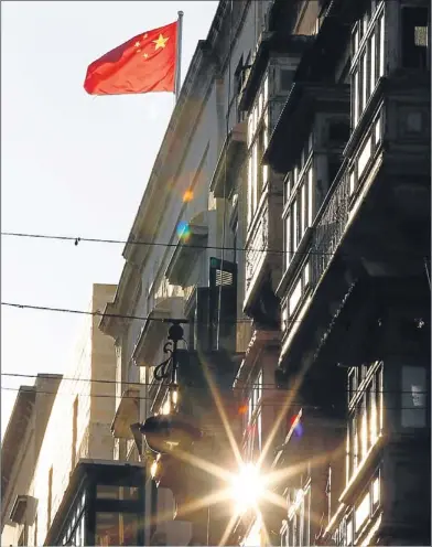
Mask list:
[[[255,508],[264,492],[264,481],[258,466],[253,463],[242,464],[237,475],[233,476],[230,496],[238,514]]]

